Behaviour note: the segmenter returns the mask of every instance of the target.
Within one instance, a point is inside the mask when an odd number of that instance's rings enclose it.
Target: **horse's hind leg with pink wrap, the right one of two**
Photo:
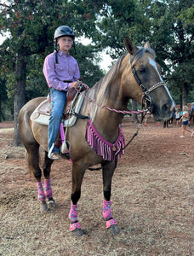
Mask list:
[[[56,207],[55,201],[53,199],[53,191],[51,188],[51,181],[50,181],[50,171],[51,165],[54,160],[50,160],[48,158],[48,152],[45,151],[44,155],[44,163],[43,163],[43,175],[44,175],[44,189],[45,195],[48,198],[48,210],[54,210]]]

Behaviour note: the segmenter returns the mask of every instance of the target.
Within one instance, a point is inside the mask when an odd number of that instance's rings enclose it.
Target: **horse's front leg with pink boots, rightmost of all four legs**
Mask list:
[[[103,217],[106,220],[106,229],[111,229],[113,234],[117,235],[120,232],[120,228],[117,225],[117,221],[112,218],[111,215],[111,178],[115,171],[115,163],[102,165],[103,175],[103,189],[104,189],[104,201],[103,201]]]

